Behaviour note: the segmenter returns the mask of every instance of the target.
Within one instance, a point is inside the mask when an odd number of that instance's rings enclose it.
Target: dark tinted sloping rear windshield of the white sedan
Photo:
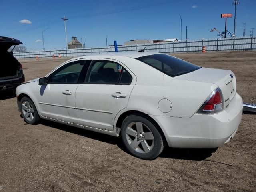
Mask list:
[[[171,77],[183,75],[200,69],[199,66],[166,54],[154,54],[138,57],[136,59]]]

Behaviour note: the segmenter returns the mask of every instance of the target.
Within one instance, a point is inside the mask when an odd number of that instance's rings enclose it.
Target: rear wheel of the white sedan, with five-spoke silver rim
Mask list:
[[[164,149],[162,135],[142,116],[127,116],[122,122],[121,136],[130,154],[144,160],[155,159]]]

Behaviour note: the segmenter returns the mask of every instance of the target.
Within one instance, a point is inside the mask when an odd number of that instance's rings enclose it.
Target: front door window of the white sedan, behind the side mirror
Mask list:
[[[68,63],[57,69],[50,76],[49,83],[52,84],[76,84],[85,61]]]

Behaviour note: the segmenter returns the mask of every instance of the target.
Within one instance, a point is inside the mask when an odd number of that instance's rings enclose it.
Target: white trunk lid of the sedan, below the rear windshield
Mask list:
[[[236,77],[230,70],[202,67],[196,71],[176,76],[175,78],[216,84],[223,94],[224,109],[228,108],[230,101],[236,94]]]

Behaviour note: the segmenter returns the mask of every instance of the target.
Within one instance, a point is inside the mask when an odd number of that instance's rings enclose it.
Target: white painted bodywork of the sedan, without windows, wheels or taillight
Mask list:
[[[200,68],[170,77],[134,59],[151,54],[135,52],[83,56],[56,68],[76,60],[112,60],[132,75],[130,85],[40,86],[34,80],[18,86],[16,95],[29,96],[40,118],[113,136],[119,136],[120,127],[116,126],[118,118],[124,112],[135,110],[147,114],[159,125],[170,147],[218,147],[228,142],[236,133],[242,117],[242,98],[236,93],[234,74],[228,70]],[[226,85],[230,82],[230,74],[234,78],[232,83]],[[216,114],[196,114],[218,87],[226,100],[224,110]],[[65,90],[72,91],[72,96],[62,94]],[[116,92],[125,97],[114,98],[112,94]],[[167,107],[160,110],[159,102],[163,99],[170,101],[170,110]]]

